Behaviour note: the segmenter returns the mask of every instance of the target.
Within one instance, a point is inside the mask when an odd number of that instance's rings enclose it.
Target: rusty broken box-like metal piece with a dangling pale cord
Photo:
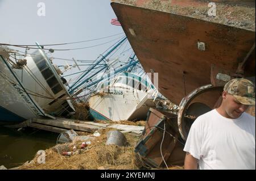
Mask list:
[[[147,124],[135,152],[139,154],[142,162],[150,167],[183,166],[185,152],[183,151],[184,142],[180,138],[176,121],[177,115],[170,112],[159,112],[152,108],[147,116]],[[160,146],[163,139],[163,130],[165,124],[164,140],[162,144],[162,154]]]

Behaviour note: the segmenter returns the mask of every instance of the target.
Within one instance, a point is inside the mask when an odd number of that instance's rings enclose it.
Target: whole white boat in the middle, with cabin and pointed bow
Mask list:
[[[98,84],[90,96],[90,114],[95,120],[146,119],[150,107],[155,107],[158,91],[146,79],[134,73],[121,73],[112,81]]]

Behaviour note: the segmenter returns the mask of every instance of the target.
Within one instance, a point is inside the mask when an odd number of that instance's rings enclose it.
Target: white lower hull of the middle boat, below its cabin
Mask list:
[[[146,95],[146,94],[145,94]],[[150,107],[155,107],[152,99],[135,99],[134,94],[95,94],[89,99],[90,115],[95,120],[135,120],[146,119]]]

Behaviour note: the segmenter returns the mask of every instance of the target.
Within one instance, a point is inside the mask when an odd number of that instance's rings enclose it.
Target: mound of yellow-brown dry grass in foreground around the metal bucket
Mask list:
[[[70,157],[56,153],[52,148],[46,150],[46,163],[39,164],[36,155],[34,163],[20,166],[19,169],[138,169],[134,163],[134,146],[138,137],[135,134],[125,134],[128,145],[105,145],[106,132],[113,129],[104,129],[101,136],[92,141],[92,145],[82,150],[81,154]],[[81,144],[81,143],[80,143]],[[79,144],[79,145],[80,145]],[[73,145],[70,144],[69,148]]]

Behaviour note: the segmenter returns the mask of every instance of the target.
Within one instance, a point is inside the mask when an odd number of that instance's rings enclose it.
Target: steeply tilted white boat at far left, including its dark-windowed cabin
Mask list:
[[[61,71],[38,49],[16,62],[18,52],[0,48],[0,121],[7,124],[40,116],[66,116],[75,112]]]

